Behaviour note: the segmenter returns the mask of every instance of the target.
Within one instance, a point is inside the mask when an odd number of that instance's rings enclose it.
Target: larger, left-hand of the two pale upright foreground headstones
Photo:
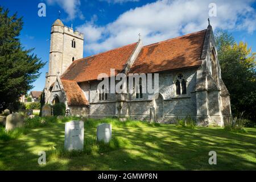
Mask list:
[[[70,121],[65,123],[65,150],[84,149],[84,122]]]

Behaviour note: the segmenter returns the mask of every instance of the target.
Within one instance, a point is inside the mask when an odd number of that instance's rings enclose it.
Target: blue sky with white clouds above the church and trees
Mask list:
[[[41,2],[46,4],[46,17],[38,16]],[[227,30],[237,42],[247,42],[256,51],[255,0],[2,0],[0,5],[8,8],[10,14],[18,12],[18,16],[23,16],[20,34],[23,47],[35,48],[34,53],[47,62],[32,90],[44,88],[49,60],[47,39],[59,10],[66,26],[73,24],[85,34],[84,57],[137,42],[139,33],[146,45],[203,30],[208,24],[209,11],[216,12],[210,16],[214,30]]]

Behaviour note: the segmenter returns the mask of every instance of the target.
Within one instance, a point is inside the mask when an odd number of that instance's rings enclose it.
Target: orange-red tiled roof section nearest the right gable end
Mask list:
[[[206,31],[144,46],[129,73],[154,73],[201,65]]]

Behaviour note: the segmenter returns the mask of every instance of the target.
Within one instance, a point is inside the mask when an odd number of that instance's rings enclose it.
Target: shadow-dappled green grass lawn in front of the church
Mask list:
[[[99,123],[112,123],[113,142],[95,141]],[[85,121],[84,152],[66,154],[64,121],[27,129],[18,139],[0,139],[0,170],[255,170],[256,129],[231,133],[222,128]],[[56,149],[55,149],[56,148]],[[217,165],[209,165],[209,151]],[[46,165],[38,152],[46,151]],[[102,155],[103,153],[103,155]]]

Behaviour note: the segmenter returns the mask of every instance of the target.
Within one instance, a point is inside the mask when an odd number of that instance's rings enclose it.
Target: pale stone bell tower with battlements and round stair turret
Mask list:
[[[51,28],[51,46],[49,51],[49,69],[46,73],[46,101],[50,87],[77,59],[82,59],[84,50],[84,35],[64,26],[60,19],[55,20]]]

